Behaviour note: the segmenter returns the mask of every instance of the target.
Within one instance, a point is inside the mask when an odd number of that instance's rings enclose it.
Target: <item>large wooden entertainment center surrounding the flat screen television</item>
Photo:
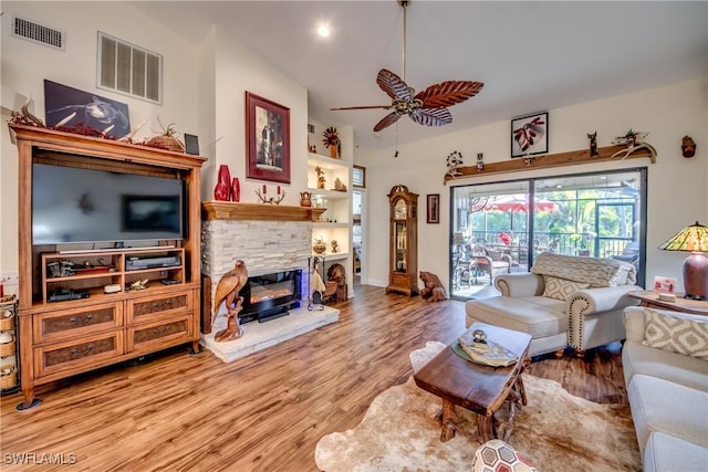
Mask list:
[[[18,318],[24,401],[18,409],[39,405],[37,385],[180,344],[198,352],[199,175],[206,159],[50,128],[10,128],[19,155]],[[146,249],[34,245],[33,164],[181,179],[184,239],[160,240]],[[62,271],[62,265],[70,270]]]

